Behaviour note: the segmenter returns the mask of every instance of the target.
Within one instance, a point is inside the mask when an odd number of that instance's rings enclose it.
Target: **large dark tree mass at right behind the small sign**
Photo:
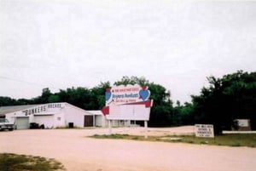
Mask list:
[[[193,95],[197,123],[214,124],[215,133],[230,129],[234,119],[251,119],[255,128],[256,72],[237,71],[222,78],[208,77],[209,88]]]

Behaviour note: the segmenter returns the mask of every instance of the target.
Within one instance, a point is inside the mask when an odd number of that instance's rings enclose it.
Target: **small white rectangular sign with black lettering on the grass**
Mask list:
[[[214,138],[213,125],[195,124],[195,136],[203,138]]]

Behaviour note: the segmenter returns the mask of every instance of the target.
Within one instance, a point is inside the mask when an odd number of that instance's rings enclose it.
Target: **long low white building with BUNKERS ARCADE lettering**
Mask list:
[[[107,126],[102,111],[84,111],[68,103],[2,106],[1,116],[15,123],[17,129],[30,128],[30,123],[44,124],[44,128]]]

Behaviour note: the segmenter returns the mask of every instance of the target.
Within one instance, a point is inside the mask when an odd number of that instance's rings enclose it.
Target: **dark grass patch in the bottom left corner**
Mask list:
[[[10,153],[0,154],[0,171],[61,171],[61,162],[44,157],[32,157]]]

